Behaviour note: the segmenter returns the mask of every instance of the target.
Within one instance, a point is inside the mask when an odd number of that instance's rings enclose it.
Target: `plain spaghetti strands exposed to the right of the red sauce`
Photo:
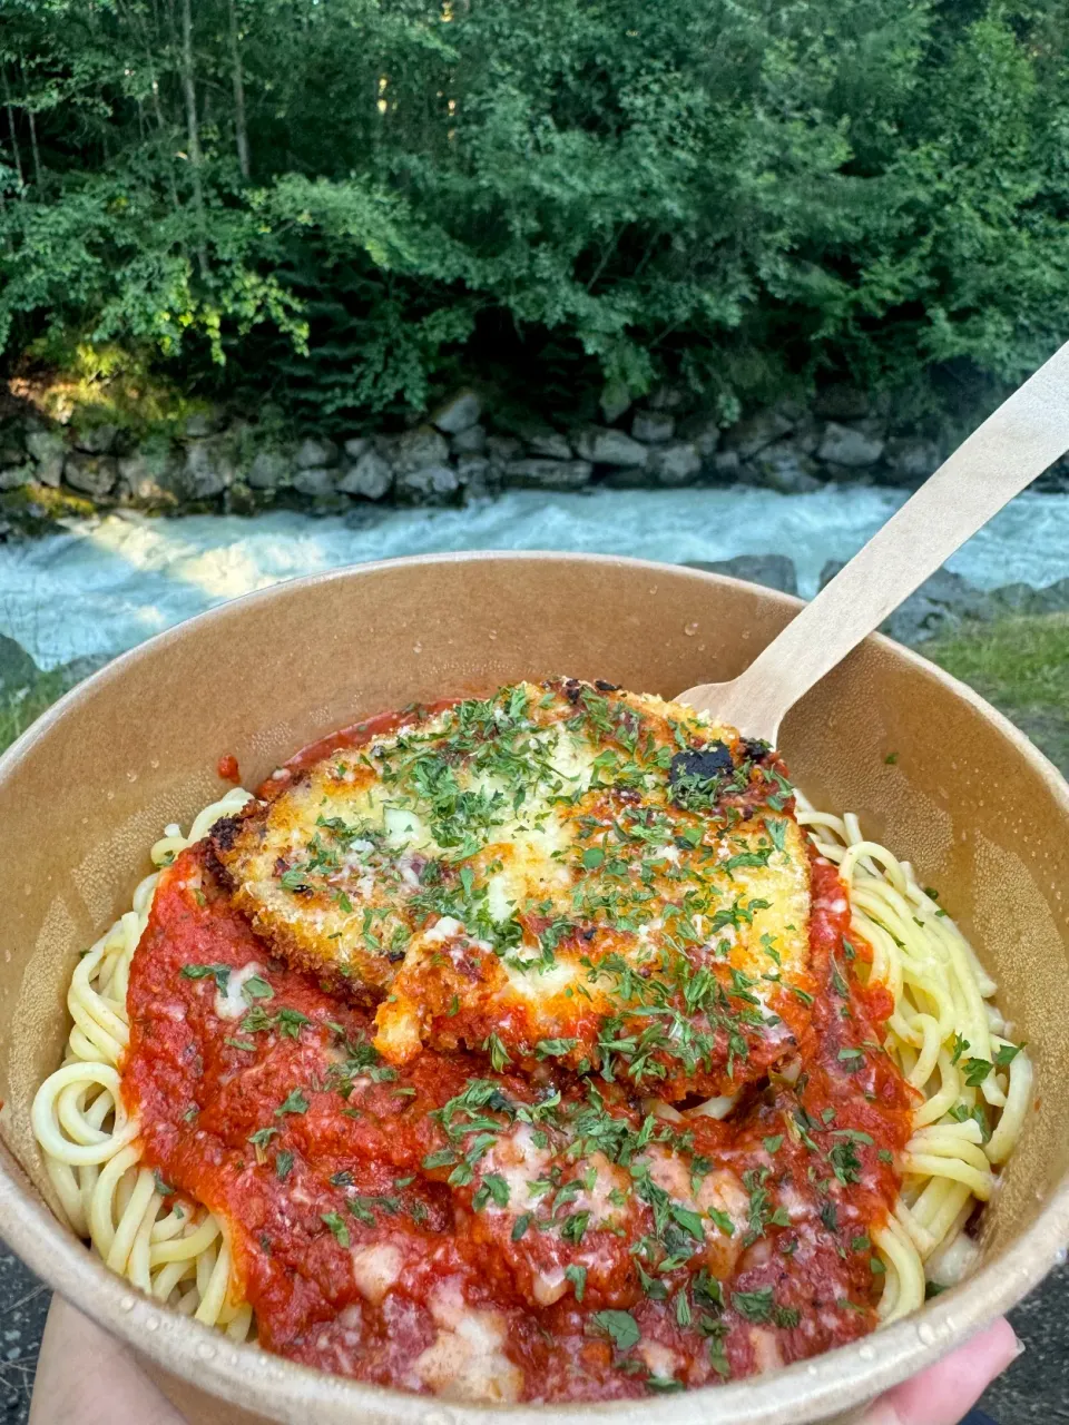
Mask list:
[[[838,866],[852,931],[872,946],[872,979],[894,996],[885,1047],[924,1094],[895,1216],[872,1234],[887,1268],[879,1317],[889,1322],[974,1264],[965,1227],[1021,1134],[1032,1063],[1008,1037],[993,980],[909,862],[867,841],[855,815],[815,811],[801,794],[798,822]],[[979,1084],[964,1072],[965,1050],[971,1063],[992,1064]]]

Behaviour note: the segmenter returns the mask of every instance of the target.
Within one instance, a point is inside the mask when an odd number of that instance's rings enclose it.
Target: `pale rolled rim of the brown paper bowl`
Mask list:
[[[174,624],[127,650],[78,683],[54,703],[0,755],[0,781],[21,762],[33,747],[63,718],[77,715],[80,704],[131,664],[153,657],[172,641],[195,637],[210,623],[232,617],[249,606],[269,606],[294,591],[331,581],[373,579],[398,567],[426,564],[485,564],[546,561],[634,569],[646,574],[690,577],[696,583],[731,586],[760,591],[763,598],[788,608],[802,600],[710,570],[614,554],[554,550],[466,550],[348,564],[299,579],[279,580]],[[966,684],[929,663],[911,648],[871,634],[868,641],[894,650],[925,677],[944,684],[968,703],[1008,738],[1049,785],[1069,822],[1069,785],[1058,768],[996,708]],[[90,1248],[73,1237],[68,1227],[48,1208],[7,1143],[0,1140],[0,1224],[3,1235],[23,1261],[60,1295],[78,1307],[135,1352],[180,1379],[210,1391],[228,1404],[251,1411],[274,1411],[281,1421],[304,1422],[309,1408],[324,1411],[328,1421],[366,1416],[391,1425],[486,1425],[497,1415],[515,1425],[590,1425],[607,1419],[613,1425],[647,1425],[650,1402],[619,1401],[576,1405],[456,1405],[433,1396],[413,1395],[369,1385],[346,1377],[298,1365],[249,1345],[228,1342],[202,1327],[143,1295],[131,1282],[111,1273]],[[874,1395],[912,1377],[948,1354],[996,1315],[1016,1304],[1026,1291],[1063,1258],[1069,1244],[1069,1171],[1052,1188],[1035,1221],[1012,1241],[996,1261],[982,1265],[972,1277],[938,1298],[921,1312],[878,1332],[861,1337],[808,1361],[798,1361],[768,1375],[750,1377],[724,1385],[686,1391],[657,1402],[659,1412],[674,1425],[805,1425],[828,1419],[869,1401]],[[161,1330],[162,1327],[162,1330]],[[875,1344],[878,1342],[878,1345]],[[268,1416],[271,1418],[271,1416]]]

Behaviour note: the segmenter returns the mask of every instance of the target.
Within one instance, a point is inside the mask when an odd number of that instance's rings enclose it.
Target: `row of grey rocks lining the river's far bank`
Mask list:
[[[830,386],[808,403],[781,400],[721,429],[671,389],[600,425],[512,422],[458,392],[425,425],[279,443],[221,409],[174,435],[135,439],[84,415],[47,423],[33,410],[0,428],[0,497],[67,492],[94,507],[227,509],[277,503],[336,512],[362,502],[443,504],[502,489],[586,490],[757,484],[802,494],[828,483],[919,484],[954,440],[895,426],[887,403]],[[1046,477],[1069,487],[1065,475]],[[4,500],[3,503],[11,503]]]

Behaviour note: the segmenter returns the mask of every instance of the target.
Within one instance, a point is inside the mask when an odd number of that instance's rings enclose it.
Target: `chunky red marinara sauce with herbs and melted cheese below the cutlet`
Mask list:
[[[124,1092],[147,1161],[227,1224],[267,1349],[459,1398],[740,1378],[875,1325],[871,1234],[915,1094],[848,922],[814,858],[797,1079],[730,1120],[666,1121],[552,1064],[379,1063],[371,1016],[269,956],[201,844],[162,874],[134,955]]]

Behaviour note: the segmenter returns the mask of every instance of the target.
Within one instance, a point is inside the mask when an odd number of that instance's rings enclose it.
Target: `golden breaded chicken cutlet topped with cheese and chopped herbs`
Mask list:
[[[217,824],[274,952],[378,1006],[375,1047],[553,1060],[733,1099],[812,1003],[783,765],[688,707],[557,678],[416,715]]]

